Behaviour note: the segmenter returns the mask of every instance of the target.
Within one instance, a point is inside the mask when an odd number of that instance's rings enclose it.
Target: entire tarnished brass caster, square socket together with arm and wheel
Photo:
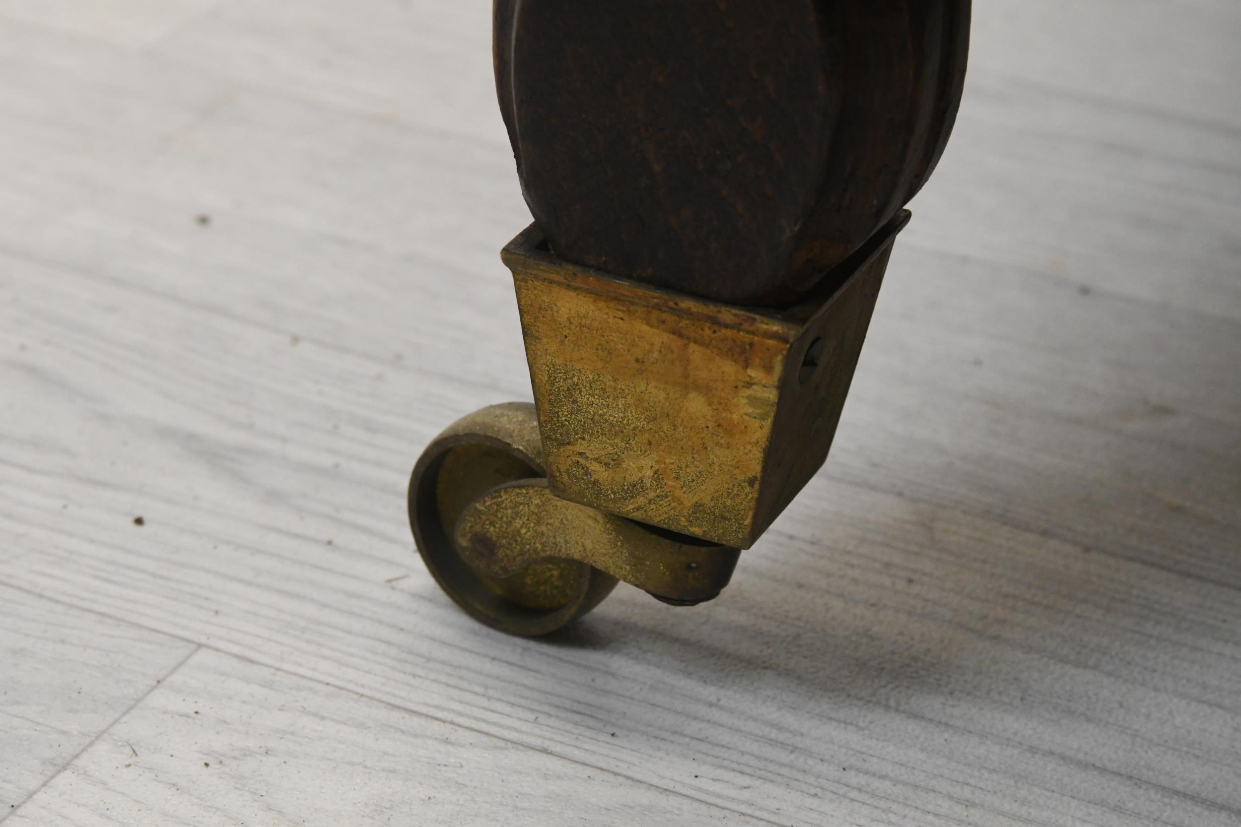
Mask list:
[[[828,456],[901,213],[802,304],[737,307],[505,247],[535,404],[483,408],[418,459],[410,524],[439,585],[513,635],[617,580],[720,594]]]

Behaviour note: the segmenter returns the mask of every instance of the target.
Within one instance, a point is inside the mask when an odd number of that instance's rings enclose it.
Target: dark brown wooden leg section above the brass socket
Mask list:
[[[969,0],[496,0],[495,77],[560,257],[782,304],[926,182],[968,32]]]

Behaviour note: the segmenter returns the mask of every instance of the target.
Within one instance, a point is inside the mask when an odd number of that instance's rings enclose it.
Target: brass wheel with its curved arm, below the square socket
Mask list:
[[[520,636],[566,626],[618,579],[674,605],[709,600],[740,555],[557,497],[535,407],[516,402],[463,417],[432,440],[410,480],[410,526],[448,596]]]

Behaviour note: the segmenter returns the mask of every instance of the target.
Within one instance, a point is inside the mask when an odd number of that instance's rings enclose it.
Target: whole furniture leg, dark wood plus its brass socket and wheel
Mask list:
[[[495,1],[535,403],[414,467],[463,609],[541,635],[618,580],[720,594],[827,459],[968,35],[969,0]]]

